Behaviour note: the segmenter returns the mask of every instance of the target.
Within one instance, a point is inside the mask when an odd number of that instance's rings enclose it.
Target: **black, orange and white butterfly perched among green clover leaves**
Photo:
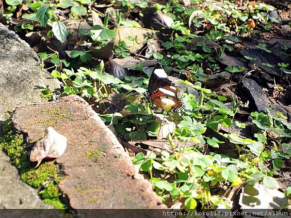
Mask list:
[[[178,78],[169,77],[165,71],[154,69],[147,86],[147,92],[144,93],[146,99],[161,109],[167,109],[169,105],[174,111],[184,107],[181,101],[181,89],[175,85]]]

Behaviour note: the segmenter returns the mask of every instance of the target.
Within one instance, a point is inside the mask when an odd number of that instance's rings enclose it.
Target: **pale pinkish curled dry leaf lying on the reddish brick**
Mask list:
[[[57,158],[65,152],[67,140],[52,127],[46,129],[44,138],[38,140],[32,148],[30,160],[37,161],[38,167],[44,158]]]

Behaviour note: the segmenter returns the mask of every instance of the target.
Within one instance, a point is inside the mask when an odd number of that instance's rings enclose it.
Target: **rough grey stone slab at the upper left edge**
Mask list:
[[[60,82],[42,71],[32,48],[0,23],[0,120],[16,106],[44,101],[40,93],[47,86],[54,90]]]

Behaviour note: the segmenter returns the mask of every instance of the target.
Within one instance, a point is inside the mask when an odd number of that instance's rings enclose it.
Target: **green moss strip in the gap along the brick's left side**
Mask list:
[[[44,202],[56,208],[64,209],[65,204],[60,200],[61,191],[57,183],[65,177],[58,176],[58,166],[53,161],[50,161],[34,169],[23,137],[14,131],[11,119],[4,122],[3,132],[4,136],[0,138],[0,149],[7,153],[11,161],[20,170],[21,180],[35,188],[39,188],[44,182],[51,180],[39,194]]]

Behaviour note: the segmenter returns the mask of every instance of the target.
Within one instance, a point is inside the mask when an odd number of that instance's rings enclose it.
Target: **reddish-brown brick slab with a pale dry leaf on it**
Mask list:
[[[56,162],[68,175],[59,187],[72,208],[166,208],[113,132],[81,97],[19,107],[12,120],[28,142],[42,138],[49,126],[67,138],[65,153]],[[93,151],[98,155],[89,158]]]

